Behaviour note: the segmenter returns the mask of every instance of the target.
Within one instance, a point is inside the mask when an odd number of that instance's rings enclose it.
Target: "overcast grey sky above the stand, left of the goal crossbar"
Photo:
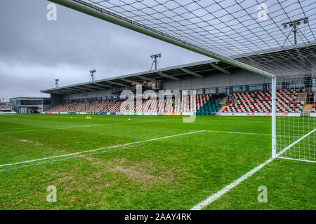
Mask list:
[[[89,80],[147,71],[150,55],[160,67],[208,57],[57,5],[57,21],[46,20],[49,1],[0,1],[0,98],[48,97],[39,92]]]

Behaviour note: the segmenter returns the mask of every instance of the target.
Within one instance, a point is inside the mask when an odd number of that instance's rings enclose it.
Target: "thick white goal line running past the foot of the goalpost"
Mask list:
[[[304,139],[305,137],[308,137],[308,135],[312,134],[313,132],[315,132],[316,129],[312,130],[311,132],[309,132],[308,134],[305,134],[303,137],[301,137],[300,139],[294,141],[294,143],[292,143],[291,145],[287,146],[287,148],[284,148],[284,150],[282,150],[280,153],[277,154],[278,158],[280,155],[282,155],[285,151],[287,151],[289,148],[291,148],[292,146],[298,144],[299,141],[301,141],[302,139]],[[199,204],[195,205],[195,207],[192,207],[191,210],[201,210],[204,207],[206,207],[207,205],[211,204],[212,202],[218,200],[218,198],[222,197],[223,195],[225,195],[225,193],[228,193],[228,191],[230,191],[232,188],[235,188],[235,186],[239,185],[239,183],[242,183],[242,181],[246,180],[249,178],[249,176],[253,175],[254,173],[256,173],[258,170],[262,169],[263,167],[265,167],[265,165],[268,165],[270,162],[272,162],[273,160],[275,160],[276,158],[270,158],[269,160],[263,162],[261,165],[258,165],[258,167],[255,167],[254,169],[251,169],[251,171],[249,171],[248,173],[244,174],[243,176],[239,177],[239,179],[237,179],[236,181],[230,183],[228,186],[225,186],[225,188],[222,188],[221,190],[218,190],[217,193],[211,195],[210,197],[208,197],[206,200],[204,200],[203,202],[200,202]]]

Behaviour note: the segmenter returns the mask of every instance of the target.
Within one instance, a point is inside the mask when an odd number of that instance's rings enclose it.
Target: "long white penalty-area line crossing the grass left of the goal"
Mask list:
[[[140,144],[140,143],[144,143],[144,142],[148,142],[148,141],[156,141],[156,140],[160,140],[160,139],[169,139],[169,138],[173,138],[173,137],[179,137],[179,136],[183,136],[186,134],[195,134],[198,132],[204,132],[204,131],[197,131],[197,132],[187,132],[187,133],[183,133],[183,134],[174,134],[174,135],[169,135],[166,137],[159,137],[156,139],[148,139],[148,140],[143,140],[143,141],[134,141],[128,144],[123,144],[123,145],[118,145],[118,146],[107,146],[107,147],[103,147],[103,148],[97,148],[97,149],[92,149],[92,150],[88,150],[88,151],[81,151],[81,152],[77,152],[77,153],[70,153],[70,154],[64,154],[64,155],[55,155],[55,156],[51,156],[48,158],[39,158],[39,159],[34,159],[34,160],[26,160],[26,161],[22,161],[22,162],[15,162],[15,163],[8,163],[8,164],[4,164],[4,165],[0,165],[0,167],[7,167],[7,166],[12,166],[12,165],[18,165],[18,164],[22,164],[22,163],[27,163],[27,162],[37,162],[37,161],[41,161],[41,160],[49,160],[49,159],[53,159],[53,158],[61,158],[61,157],[66,157],[66,156],[71,156],[71,155],[78,155],[81,153],[91,153],[91,152],[95,152],[95,151],[100,151],[103,149],[108,149],[108,148],[117,148],[117,147],[123,147],[123,146],[131,146],[133,144]]]

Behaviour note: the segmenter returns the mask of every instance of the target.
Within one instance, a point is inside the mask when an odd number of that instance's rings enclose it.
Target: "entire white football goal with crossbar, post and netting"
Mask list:
[[[272,157],[315,161],[315,0],[50,1],[271,78]]]

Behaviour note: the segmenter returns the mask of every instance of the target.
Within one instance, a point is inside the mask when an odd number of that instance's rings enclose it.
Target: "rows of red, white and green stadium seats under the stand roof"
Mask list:
[[[277,112],[279,113],[302,113],[304,102],[301,102],[298,94],[304,90],[278,90],[277,91]],[[223,94],[198,94],[196,101],[190,95],[183,95],[180,102],[174,98],[164,99],[143,99],[142,106],[136,102],[125,102],[121,100],[95,101],[95,102],[72,102],[63,103],[50,109],[50,112],[110,112],[125,113],[131,112],[129,107],[134,106],[137,113],[187,113],[196,112],[197,115],[211,115],[216,113],[221,105]],[[232,94],[232,102],[225,106],[223,113],[269,113],[271,109],[271,92],[235,92]],[[172,104],[173,102],[173,104]],[[312,112],[316,111],[316,104]]]

